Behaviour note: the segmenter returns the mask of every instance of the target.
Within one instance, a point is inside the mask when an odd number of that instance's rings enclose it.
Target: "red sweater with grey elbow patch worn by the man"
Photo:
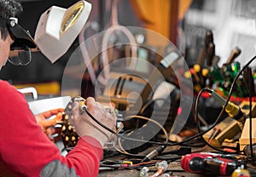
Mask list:
[[[44,134],[26,99],[0,80],[0,176],[96,176],[102,159],[100,143],[83,137],[62,157]]]

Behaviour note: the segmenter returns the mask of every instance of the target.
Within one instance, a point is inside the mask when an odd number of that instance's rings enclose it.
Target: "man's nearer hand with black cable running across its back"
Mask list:
[[[95,117],[100,123],[115,131],[115,115],[106,111],[104,106],[102,106],[101,103],[96,102],[92,97],[85,100],[85,105],[87,106],[87,111],[89,111],[93,117]],[[109,103],[109,106],[112,105]],[[71,117],[69,121],[75,127],[76,132],[81,138],[86,135],[94,137],[102,144],[102,146],[104,146],[112,133],[94,122],[85,112],[82,115],[80,113],[81,110],[79,108],[79,103],[75,102],[73,107],[73,117]]]

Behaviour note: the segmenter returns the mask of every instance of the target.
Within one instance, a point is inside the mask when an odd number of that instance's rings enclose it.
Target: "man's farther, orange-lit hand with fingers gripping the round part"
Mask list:
[[[51,134],[55,134],[56,130],[55,128],[52,128],[55,126],[55,124],[62,119],[62,113],[64,109],[55,109],[55,110],[49,110],[45,111],[41,114],[36,115],[36,120],[38,125],[44,130],[44,133],[49,136],[50,140],[54,140],[54,138],[50,138]],[[55,116],[55,117],[52,117]],[[49,118],[52,117],[52,118]]]

